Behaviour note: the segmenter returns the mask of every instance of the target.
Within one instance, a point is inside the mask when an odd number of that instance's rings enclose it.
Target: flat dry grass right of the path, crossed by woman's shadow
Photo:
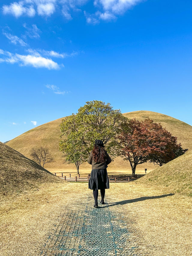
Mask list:
[[[114,202],[125,200],[121,207],[139,248],[150,256],[192,255],[191,197],[135,182],[111,188]]]

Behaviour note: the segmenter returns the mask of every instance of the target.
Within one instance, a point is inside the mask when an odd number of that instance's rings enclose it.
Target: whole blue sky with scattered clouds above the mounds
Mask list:
[[[92,100],[192,125],[191,1],[15,0],[0,8],[0,141]]]

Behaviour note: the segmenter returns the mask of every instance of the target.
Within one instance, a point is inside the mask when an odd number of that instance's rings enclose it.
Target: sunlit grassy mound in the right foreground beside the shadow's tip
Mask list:
[[[192,150],[153,170],[137,183],[192,196]]]

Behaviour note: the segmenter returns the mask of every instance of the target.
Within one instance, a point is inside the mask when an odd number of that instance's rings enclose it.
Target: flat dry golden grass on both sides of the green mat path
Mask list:
[[[118,205],[124,213],[138,255],[143,251],[150,256],[192,255],[192,197],[172,192],[135,182],[110,183],[106,190],[109,208]],[[88,194],[92,194],[88,183],[64,182],[1,196],[0,256],[40,255],[61,213],[78,211]]]

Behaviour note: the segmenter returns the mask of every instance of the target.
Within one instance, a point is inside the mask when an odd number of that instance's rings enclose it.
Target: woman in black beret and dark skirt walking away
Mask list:
[[[98,189],[101,191],[101,204],[104,204],[105,188],[109,188],[107,164],[110,164],[111,161],[110,156],[104,149],[103,141],[95,140],[94,148],[88,158],[88,163],[92,165],[88,188],[93,189],[94,207],[98,207]]]

